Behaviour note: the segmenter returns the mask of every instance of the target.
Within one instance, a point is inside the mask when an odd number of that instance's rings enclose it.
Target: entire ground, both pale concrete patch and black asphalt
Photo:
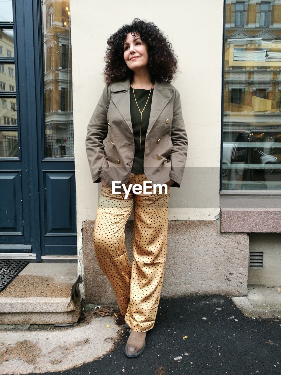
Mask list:
[[[281,319],[245,317],[226,296],[161,299],[138,358],[124,355],[129,331],[91,312],[70,329],[0,335],[1,374],[281,374]]]

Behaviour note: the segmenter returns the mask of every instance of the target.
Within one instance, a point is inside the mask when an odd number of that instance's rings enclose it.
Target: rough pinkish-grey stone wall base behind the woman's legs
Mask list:
[[[94,221],[83,225],[85,303],[116,303],[115,294],[97,264],[93,247]],[[219,220],[169,220],[168,248],[161,297],[190,294],[247,296],[249,237],[220,233]],[[132,262],[133,221],[125,228]]]

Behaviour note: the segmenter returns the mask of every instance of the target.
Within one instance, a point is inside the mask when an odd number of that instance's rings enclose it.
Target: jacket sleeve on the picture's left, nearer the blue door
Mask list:
[[[108,133],[107,112],[109,98],[110,90],[109,85],[107,85],[103,89],[102,96],[88,124],[86,151],[93,182],[100,182],[100,172],[105,159],[103,140]]]

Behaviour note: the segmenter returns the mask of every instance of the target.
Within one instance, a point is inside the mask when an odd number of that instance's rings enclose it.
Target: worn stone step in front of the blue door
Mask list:
[[[81,314],[76,263],[29,263],[0,293],[0,324],[67,324]]]

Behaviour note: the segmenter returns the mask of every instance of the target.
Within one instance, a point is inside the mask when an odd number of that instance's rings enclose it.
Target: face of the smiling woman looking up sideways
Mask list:
[[[138,71],[148,64],[147,44],[141,40],[139,34],[127,34],[124,42],[124,60],[129,69]]]

